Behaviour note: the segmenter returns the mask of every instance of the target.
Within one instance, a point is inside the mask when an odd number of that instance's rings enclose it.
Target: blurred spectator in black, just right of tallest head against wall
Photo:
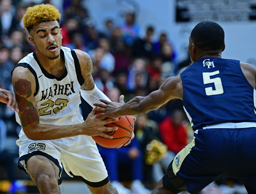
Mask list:
[[[147,59],[152,59],[154,55],[152,40],[153,34],[154,28],[152,26],[148,26],[145,37],[143,39],[138,38],[134,41],[133,57],[145,57]]]

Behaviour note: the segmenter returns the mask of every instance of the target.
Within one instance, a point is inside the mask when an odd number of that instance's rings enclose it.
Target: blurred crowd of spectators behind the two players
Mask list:
[[[60,9],[62,45],[90,55],[93,79],[112,101],[119,101],[121,94],[125,96],[125,102],[134,96],[146,96],[157,90],[167,77],[176,76],[191,64],[189,55],[178,63],[177,53],[168,34],[162,32],[157,39],[153,39],[154,26],[148,25],[146,29],[141,29],[133,11],[123,13],[125,17],[121,25],[117,25],[114,19],[107,19],[104,30],[97,30],[82,1],[0,0],[1,88],[13,90],[12,69],[20,59],[35,51],[28,41],[22,17],[28,6],[38,3],[52,3]],[[141,36],[143,31],[145,33]],[[86,118],[91,107],[81,100],[81,113]],[[120,194],[131,193],[132,189],[140,188],[138,185],[142,183],[142,189],[154,188],[168,164],[193,136],[181,100],[171,100],[158,110],[136,117],[135,138],[129,146],[120,149],[99,146],[109,176],[116,188],[119,187]],[[26,188],[18,185],[13,172],[18,158],[15,141],[19,131],[14,112],[9,111],[6,104],[0,104],[0,169],[7,171],[6,176],[12,183],[9,188],[11,193],[26,191]],[[162,143],[167,151],[148,163],[146,152],[148,147],[154,146],[152,141]],[[123,161],[120,157],[127,159]],[[133,181],[131,190],[125,189],[123,180]],[[143,194],[147,190],[136,192]]]

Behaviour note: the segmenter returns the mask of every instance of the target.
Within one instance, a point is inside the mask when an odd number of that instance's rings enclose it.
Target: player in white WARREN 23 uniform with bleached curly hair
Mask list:
[[[18,167],[41,194],[60,193],[63,168],[83,180],[93,194],[117,194],[91,136],[112,138],[104,131],[117,127],[105,124],[118,119],[104,121],[91,112],[84,121],[79,114],[80,93],[92,106],[99,98],[109,99],[94,84],[90,56],[61,47],[59,23],[58,9],[49,4],[29,7],[23,16],[35,52],[21,59],[12,72],[20,110],[16,118],[22,126]]]

